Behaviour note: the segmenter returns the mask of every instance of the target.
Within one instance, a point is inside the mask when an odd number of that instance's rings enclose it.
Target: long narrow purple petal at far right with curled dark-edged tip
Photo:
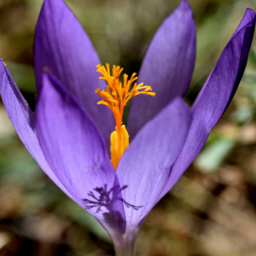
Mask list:
[[[247,57],[252,44],[255,26],[255,13],[247,9],[236,32],[220,55],[216,66],[207,79],[195,103],[194,115],[189,129],[189,136],[183,151],[172,166],[172,172],[160,198],[182,176],[191,162],[207,142],[207,137],[218,119],[228,107],[242,74],[247,65]]]

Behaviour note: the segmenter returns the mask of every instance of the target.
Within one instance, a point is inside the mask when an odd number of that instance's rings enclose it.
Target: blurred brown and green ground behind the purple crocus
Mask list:
[[[68,0],[102,63],[137,72],[178,0]],[[34,108],[32,45],[42,0],[0,0],[0,56]],[[189,0],[197,26],[191,104],[255,0]],[[149,213],[137,255],[256,255],[256,38],[233,102],[194,163]],[[0,103],[0,256],[113,255],[105,230],[20,143]]]

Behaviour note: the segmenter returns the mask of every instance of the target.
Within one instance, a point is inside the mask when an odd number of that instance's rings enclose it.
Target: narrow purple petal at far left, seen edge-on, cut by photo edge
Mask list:
[[[3,99],[4,107],[9,114],[9,119],[15,126],[20,140],[26,146],[26,149],[32,154],[32,157],[38,162],[38,165],[44,172],[55,182],[55,184],[62,189],[69,197],[67,189],[62,185],[55,173],[51,171],[44,154],[38,143],[38,137],[33,131],[34,116],[28,104],[20,94],[14,80],[9,75],[7,68],[3,61],[0,61],[0,93]]]

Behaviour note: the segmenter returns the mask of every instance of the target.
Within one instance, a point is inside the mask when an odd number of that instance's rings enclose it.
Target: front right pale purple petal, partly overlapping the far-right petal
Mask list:
[[[138,132],[119,161],[117,176],[127,225],[133,229],[148,214],[183,148],[191,112],[178,97]]]

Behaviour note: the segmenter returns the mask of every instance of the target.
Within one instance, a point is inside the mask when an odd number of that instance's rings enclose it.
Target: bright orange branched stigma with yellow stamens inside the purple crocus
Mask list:
[[[110,152],[111,162],[116,170],[121,156],[124,154],[125,149],[129,146],[129,134],[126,131],[125,125],[122,125],[123,113],[126,103],[134,96],[139,94],[148,94],[154,96],[154,92],[149,92],[151,86],[142,84],[131,84],[137,80],[136,73],[131,75],[131,79],[128,80],[128,75],[124,74],[124,85],[119,81],[119,75],[122,73],[123,68],[113,65],[112,75],[110,74],[109,64],[106,67],[101,64],[96,65],[98,68],[96,71],[102,74],[99,79],[107,81],[108,85],[106,90],[97,88],[96,93],[102,97],[102,101],[97,102],[108,106],[113,112],[115,119],[115,131],[110,136]],[[130,90],[131,89],[131,90]]]

